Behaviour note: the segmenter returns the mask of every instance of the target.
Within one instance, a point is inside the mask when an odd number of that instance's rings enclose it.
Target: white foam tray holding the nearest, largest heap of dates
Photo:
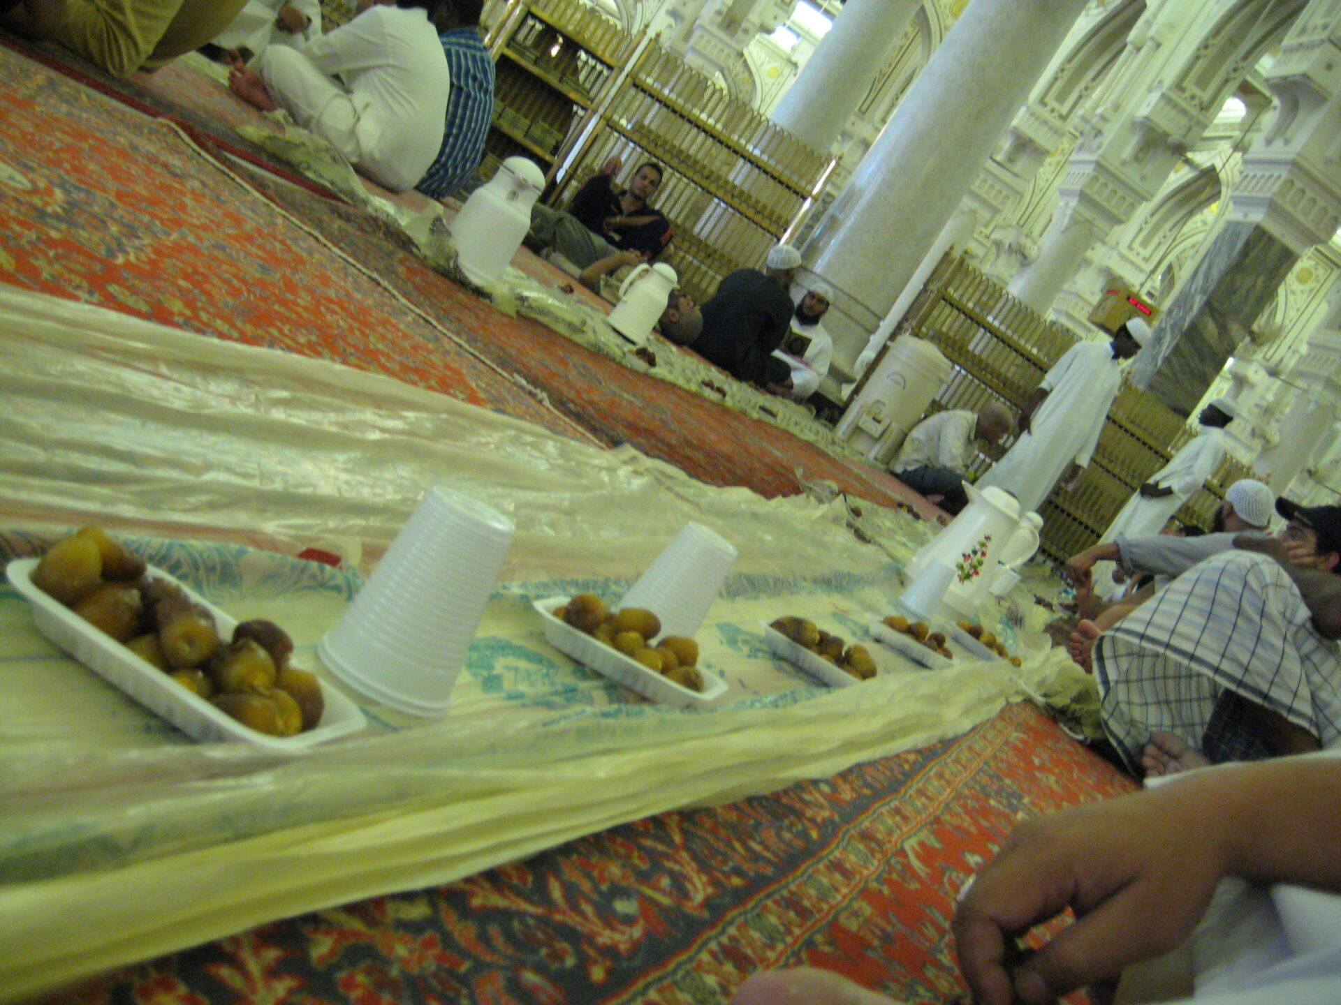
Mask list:
[[[357,733],[366,725],[358,705],[323,679],[320,685],[326,709],[315,729],[291,737],[257,733],[204,698],[192,694],[162,670],[145,662],[63,603],[38,590],[31,578],[36,565],[38,559],[15,559],[5,567],[5,574],[13,588],[32,604],[32,620],[38,631],[105,681],[119,687],[150,712],[162,716],[192,740],[202,744],[241,740],[268,750],[302,750],[314,744]],[[237,624],[236,618],[229,618],[160,568],[150,565],[148,575],[177,583],[186,591],[186,596],[215,615],[220,638],[232,638],[233,627]]]

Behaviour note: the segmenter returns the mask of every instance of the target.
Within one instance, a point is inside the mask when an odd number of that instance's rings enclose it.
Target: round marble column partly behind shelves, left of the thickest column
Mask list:
[[[848,0],[770,118],[815,150],[829,150],[920,5]]]

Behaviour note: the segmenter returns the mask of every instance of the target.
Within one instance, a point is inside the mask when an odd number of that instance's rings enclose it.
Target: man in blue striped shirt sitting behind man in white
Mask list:
[[[444,198],[475,177],[484,157],[484,138],[493,118],[493,60],[480,38],[484,0],[448,0],[437,27],[452,94],[447,100],[443,149],[416,185],[433,198]]]

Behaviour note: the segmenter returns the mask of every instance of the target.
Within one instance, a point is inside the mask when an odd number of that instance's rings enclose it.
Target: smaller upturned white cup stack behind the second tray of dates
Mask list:
[[[645,607],[666,635],[692,636],[735,560],[736,548],[725,537],[703,524],[685,524],[618,607]]]

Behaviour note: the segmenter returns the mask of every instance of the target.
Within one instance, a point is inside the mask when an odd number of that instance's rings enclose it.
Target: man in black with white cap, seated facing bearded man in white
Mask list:
[[[689,347],[740,381],[778,393],[791,387],[791,367],[772,351],[791,327],[787,289],[801,267],[801,252],[779,244],[763,272],[736,269],[721,280],[703,311],[703,334]]]

